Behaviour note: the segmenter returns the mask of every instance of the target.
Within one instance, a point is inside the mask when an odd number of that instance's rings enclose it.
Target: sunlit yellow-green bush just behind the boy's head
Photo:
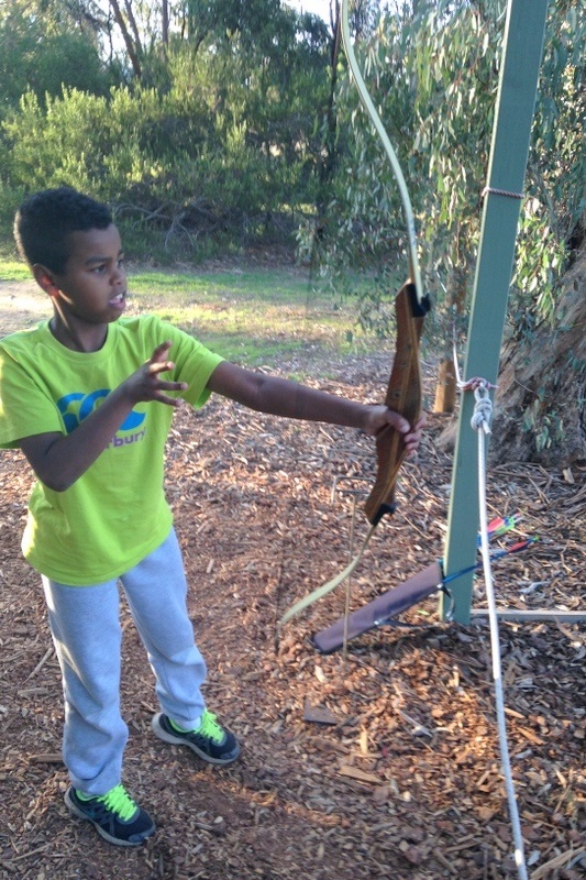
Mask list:
[[[2,127],[10,182],[31,190],[75,185],[183,248],[228,229],[256,235],[270,212],[295,200],[302,164],[267,157],[248,143],[244,123],[213,118],[188,98],[67,89],[42,105],[27,92]]]

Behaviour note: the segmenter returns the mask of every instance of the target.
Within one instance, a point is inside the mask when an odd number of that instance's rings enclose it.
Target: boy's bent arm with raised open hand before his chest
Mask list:
[[[115,432],[135,404],[157,400],[177,406],[180,400],[166,391],[184,391],[184,382],[166,382],[159,374],[173,370],[165,360],[170,342],[164,342],[135,373],[104,398],[71,433],[38,433],[19,441],[38,480],[55,492],[65,492],[111,443]]]

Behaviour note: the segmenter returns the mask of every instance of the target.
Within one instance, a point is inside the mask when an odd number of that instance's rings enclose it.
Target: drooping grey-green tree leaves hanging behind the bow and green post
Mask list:
[[[436,304],[433,330],[446,350],[454,322],[457,331],[458,295],[472,288],[505,7],[505,0],[421,0],[386,15],[356,46],[408,180],[423,283]],[[586,228],[585,38],[586,7],[579,0],[552,4],[527,175],[531,197],[523,206],[516,261],[516,331],[519,315],[529,321],[531,314],[534,319],[555,314],[568,248]],[[331,190],[323,266],[336,279],[360,265],[374,271],[363,322],[384,331],[394,278],[407,272],[405,218],[390,166],[347,75],[338,108],[340,124],[352,136]],[[301,245],[313,234],[308,224]]]

